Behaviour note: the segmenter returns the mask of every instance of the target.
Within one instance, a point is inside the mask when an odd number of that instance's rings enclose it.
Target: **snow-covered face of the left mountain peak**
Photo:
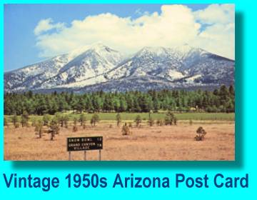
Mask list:
[[[58,75],[44,81],[41,88],[51,88],[91,79],[113,69],[121,60],[122,55],[118,51],[103,44],[95,44],[66,64]],[[104,81],[104,78],[101,81]],[[93,83],[96,84],[97,79]]]

